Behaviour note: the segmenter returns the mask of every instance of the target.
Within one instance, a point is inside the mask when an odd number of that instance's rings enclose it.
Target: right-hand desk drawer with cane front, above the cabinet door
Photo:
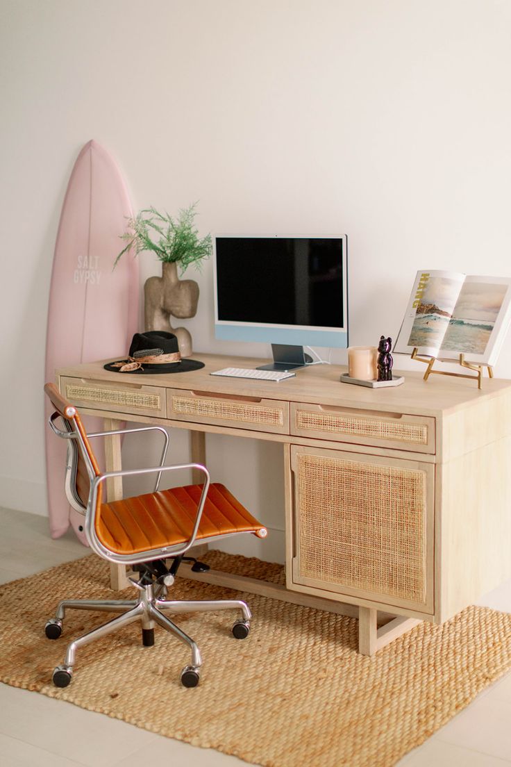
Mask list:
[[[434,453],[434,418],[291,403],[291,434],[375,447]]]

